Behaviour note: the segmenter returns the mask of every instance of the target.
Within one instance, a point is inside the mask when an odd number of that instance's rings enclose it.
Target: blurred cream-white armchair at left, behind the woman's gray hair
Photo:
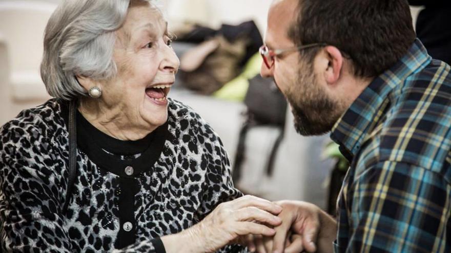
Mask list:
[[[39,75],[44,29],[56,5],[0,2],[0,125],[50,96]]]

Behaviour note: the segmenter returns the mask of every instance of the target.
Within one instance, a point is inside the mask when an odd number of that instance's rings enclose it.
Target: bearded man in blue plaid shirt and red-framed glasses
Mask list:
[[[281,201],[257,250],[451,252],[451,68],[416,38],[407,1],[275,0],[260,54],[297,131],[331,131],[351,166],[336,218]]]

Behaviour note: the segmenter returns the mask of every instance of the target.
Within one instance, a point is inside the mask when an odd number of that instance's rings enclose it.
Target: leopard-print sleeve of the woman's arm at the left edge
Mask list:
[[[0,242],[5,252],[70,252],[61,215],[60,181],[49,143],[31,143],[32,128],[0,135]],[[30,152],[33,150],[33,152]]]

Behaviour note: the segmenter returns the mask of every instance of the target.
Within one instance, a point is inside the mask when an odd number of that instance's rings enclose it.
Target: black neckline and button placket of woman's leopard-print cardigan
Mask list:
[[[67,102],[62,101],[61,105],[61,114],[67,127],[69,107]],[[92,162],[120,176],[119,187],[123,189],[118,200],[120,226],[124,226],[126,222],[136,224],[133,202],[139,186],[132,178],[149,170],[148,165],[154,164],[159,158],[168,135],[168,124],[163,124],[141,140],[122,141],[98,130],[78,110],[76,117],[78,148],[86,153]],[[125,172],[124,168],[128,166],[133,168],[133,175],[127,175]],[[124,248],[135,243],[135,235],[132,232],[135,232],[134,229],[129,232],[119,231],[116,247]],[[164,248],[162,250],[164,251]]]

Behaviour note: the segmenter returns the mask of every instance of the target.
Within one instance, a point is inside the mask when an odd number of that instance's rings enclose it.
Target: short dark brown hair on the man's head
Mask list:
[[[288,35],[296,45],[322,42],[349,56],[354,75],[376,77],[393,66],[416,35],[406,0],[299,0]],[[318,48],[302,55],[313,59]]]

